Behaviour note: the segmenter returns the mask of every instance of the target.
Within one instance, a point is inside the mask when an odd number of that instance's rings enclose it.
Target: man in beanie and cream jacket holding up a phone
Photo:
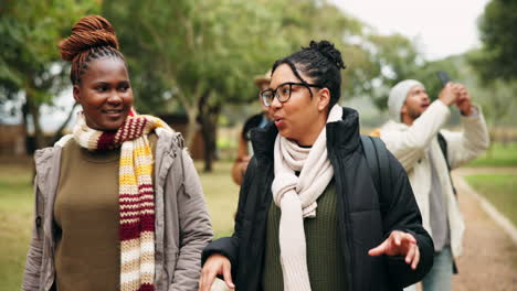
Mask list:
[[[453,105],[462,114],[463,132],[443,129]],[[381,127],[380,138],[408,172],[423,226],[434,241],[434,265],[422,281],[423,290],[451,290],[454,257],[462,252],[465,224],[450,170],[488,148],[485,119],[481,108],[471,103],[467,89],[454,83],[431,103],[422,83],[400,82],[390,91],[388,107],[390,120]]]

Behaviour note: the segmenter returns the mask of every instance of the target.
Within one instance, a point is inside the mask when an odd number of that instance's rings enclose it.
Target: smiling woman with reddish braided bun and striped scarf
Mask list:
[[[73,134],[34,154],[22,289],[196,290],[212,229],[181,136],[131,114],[127,64],[106,19],[81,19],[59,46],[83,110]]]

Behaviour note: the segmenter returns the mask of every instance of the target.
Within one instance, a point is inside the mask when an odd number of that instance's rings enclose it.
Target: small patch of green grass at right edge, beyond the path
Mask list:
[[[517,142],[494,142],[484,154],[467,166],[517,166]]]

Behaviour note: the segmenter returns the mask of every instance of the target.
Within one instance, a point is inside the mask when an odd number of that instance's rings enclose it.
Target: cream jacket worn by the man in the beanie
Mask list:
[[[481,108],[476,107],[472,116],[462,117],[463,132],[441,130],[445,125],[450,109],[435,100],[411,127],[388,121],[380,130],[380,138],[388,150],[400,161],[408,172],[416,203],[422,213],[423,226],[433,236],[430,220],[431,163],[428,151],[431,151],[442,184],[445,207],[451,229],[451,248],[455,257],[462,254],[462,240],[465,224],[454,196],[449,169],[437,142],[439,131],[447,142],[447,158],[451,169],[456,169],[472,161],[489,146],[488,130]]]

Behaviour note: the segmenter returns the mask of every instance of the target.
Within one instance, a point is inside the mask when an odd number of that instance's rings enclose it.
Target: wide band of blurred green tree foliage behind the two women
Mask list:
[[[59,40],[99,4],[129,63],[137,109],[184,112],[189,125],[210,115],[204,127],[223,106],[255,100],[253,76],[310,40],[341,50],[344,98],[371,96],[381,108],[389,88],[422,63],[408,39],[377,35],[325,0],[8,1],[0,10],[3,100],[24,93],[38,120],[39,106],[67,84]]]

